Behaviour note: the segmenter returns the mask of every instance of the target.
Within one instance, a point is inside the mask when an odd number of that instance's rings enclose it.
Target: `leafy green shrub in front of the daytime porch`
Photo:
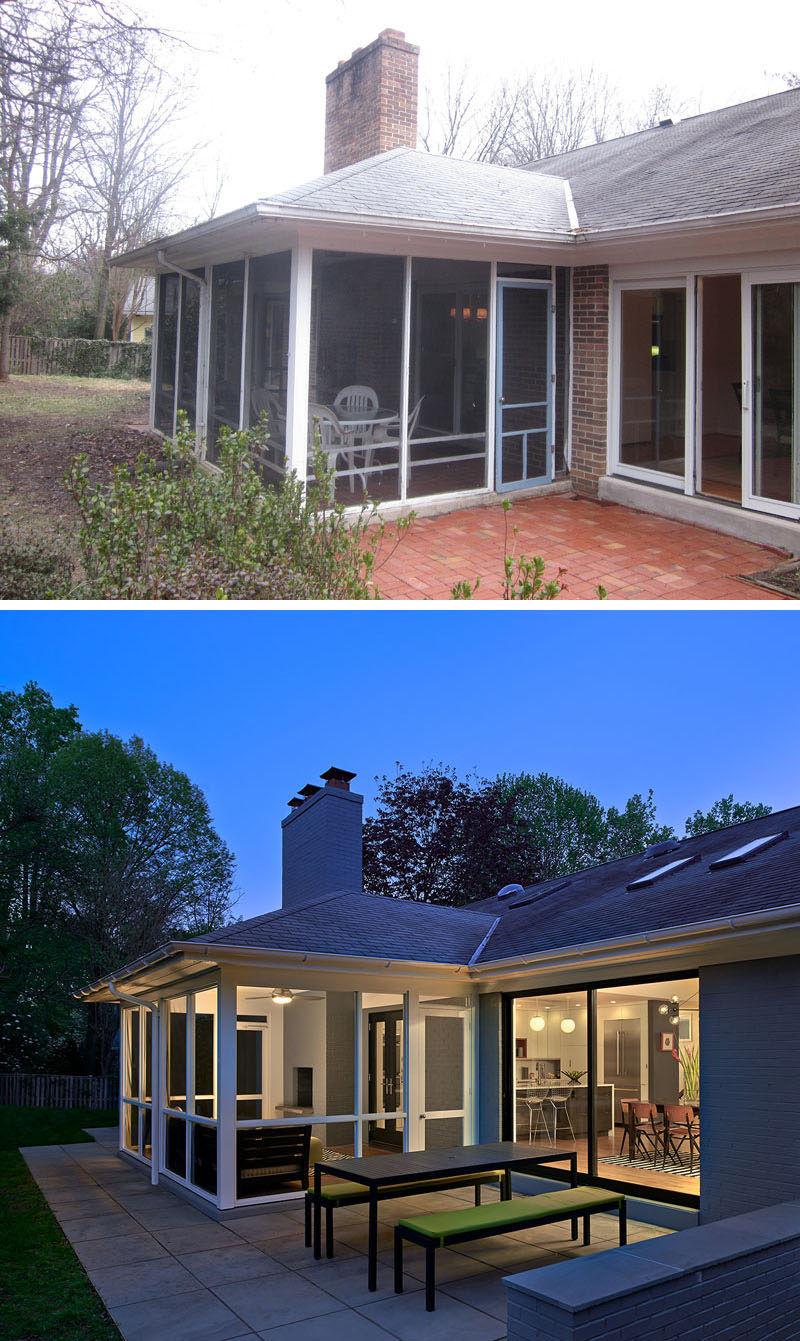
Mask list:
[[[111,485],[88,480],[86,457],[66,476],[80,514],[84,599],[374,599],[386,528],[374,504],[355,518],[331,504],[334,476],[316,452],[316,484],[295,475],[264,488],[257,457],[265,422],[222,429],[218,471],[194,457],[194,433],[181,416],[162,461],[141,455],[118,467]],[[398,524],[399,532],[409,523]]]

